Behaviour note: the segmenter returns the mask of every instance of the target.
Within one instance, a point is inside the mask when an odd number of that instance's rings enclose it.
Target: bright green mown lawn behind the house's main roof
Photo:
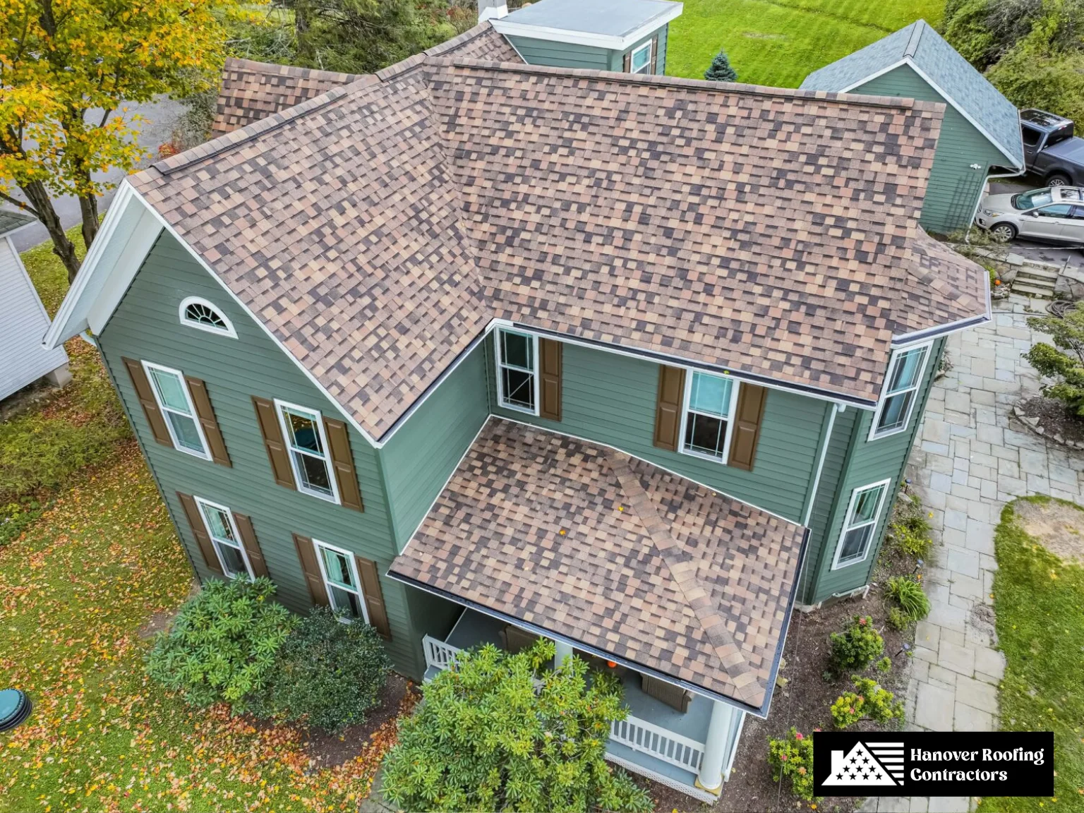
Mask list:
[[[738,81],[797,88],[812,70],[922,17],[943,0],[684,0],[670,24],[667,74],[702,79],[720,48]]]

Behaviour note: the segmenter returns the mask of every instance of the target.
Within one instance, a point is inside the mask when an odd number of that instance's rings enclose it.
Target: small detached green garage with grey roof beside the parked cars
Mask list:
[[[988,177],[1024,171],[1017,108],[924,20],[814,70],[801,87],[945,105],[922,202],[928,231],[966,229]]]

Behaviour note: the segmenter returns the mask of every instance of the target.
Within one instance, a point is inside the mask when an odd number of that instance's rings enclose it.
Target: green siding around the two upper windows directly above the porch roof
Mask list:
[[[495,382],[492,336],[486,341]],[[826,401],[770,389],[752,472],[653,444],[659,382],[657,364],[643,359],[565,344],[562,421],[496,405],[494,414],[611,446],[793,521],[802,509],[817,463]]]

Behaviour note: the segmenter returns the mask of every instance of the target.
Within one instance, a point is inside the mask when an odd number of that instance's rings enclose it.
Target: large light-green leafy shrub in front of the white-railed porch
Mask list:
[[[487,645],[456,656],[400,724],[385,796],[404,810],[649,811],[647,793],[605,760],[610,723],[628,713],[620,683],[589,680],[577,657],[546,671],[553,654],[539,641],[516,655]]]

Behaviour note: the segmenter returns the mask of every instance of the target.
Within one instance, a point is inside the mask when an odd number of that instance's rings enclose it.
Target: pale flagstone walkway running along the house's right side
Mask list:
[[[925,567],[930,615],[919,622],[907,691],[908,730],[995,731],[1004,656],[994,647],[994,528],[1016,496],[1082,502],[1084,455],[1032,434],[1012,404],[1038,390],[1020,353],[1043,338],[1029,300],[994,305],[994,321],[949,340],[953,369],[934,384],[908,476],[933,512]],[[1042,306],[1037,306],[1042,307]],[[1045,314],[1045,313],[1044,313]],[[966,797],[868,799],[865,813],[967,813]]]

